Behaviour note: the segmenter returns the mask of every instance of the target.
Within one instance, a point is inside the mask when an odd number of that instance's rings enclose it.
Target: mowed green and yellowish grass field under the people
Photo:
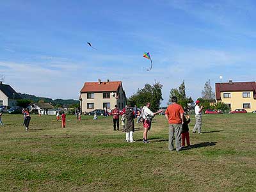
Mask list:
[[[148,136],[136,125],[136,143],[113,131],[112,118],[3,115],[0,191],[256,191],[256,115],[204,115],[192,148],[168,150],[168,123],[154,118]],[[120,125],[121,128],[121,125]]]

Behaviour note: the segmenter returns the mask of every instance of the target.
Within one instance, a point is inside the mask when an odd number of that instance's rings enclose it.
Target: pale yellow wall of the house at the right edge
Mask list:
[[[230,98],[224,98],[223,93],[230,93]],[[231,104],[231,110],[234,111],[235,109],[243,109],[244,103],[250,103],[251,108],[244,108],[247,112],[252,112],[256,110],[256,99],[253,99],[253,92],[250,92],[249,98],[243,98],[244,92],[221,92],[221,100],[226,104]]]

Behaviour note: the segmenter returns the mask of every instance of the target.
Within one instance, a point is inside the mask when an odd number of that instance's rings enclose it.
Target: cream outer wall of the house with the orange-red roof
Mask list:
[[[116,92],[113,92],[116,95]],[[118,92],[118,99],[115,99],[115,97],[113,97],[110,94],[110,98],[106,98],[103,99],[103,93],[102,92],[98,92],[98,93],[94,93],[94,99],[87,99],[87,93],[81,93],[81,109],[82,112],[84,113],[86,112],[90,112],[93,111],[95,109],[103,109],[103,103],[104,102],[109,102],[110,103],[110,109],[115,108],[115,105],[119,105],[119,109],[122,109],[125,107],[125,98],[124,98],[124,90],[121,87],[119,89]],[[94,103],[94,108],[93,109],[88,109],[87,108],[87,104],[88,103]]]

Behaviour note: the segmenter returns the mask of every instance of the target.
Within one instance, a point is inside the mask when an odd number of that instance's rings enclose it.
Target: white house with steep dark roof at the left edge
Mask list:
[[[18,99],[22,97],[9,84],[0,81],[0,106],[15,106]]]

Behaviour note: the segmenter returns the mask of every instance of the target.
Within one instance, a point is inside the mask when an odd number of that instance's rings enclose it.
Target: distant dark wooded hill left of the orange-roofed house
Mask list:
[[[19,93],[22,99],[31,100],[32,102],[50,102],[53,106],[79,106],[79,100],[74,99],[51,99],[47,97],[36,97],[35,95],[29,95],[26,93]]]

